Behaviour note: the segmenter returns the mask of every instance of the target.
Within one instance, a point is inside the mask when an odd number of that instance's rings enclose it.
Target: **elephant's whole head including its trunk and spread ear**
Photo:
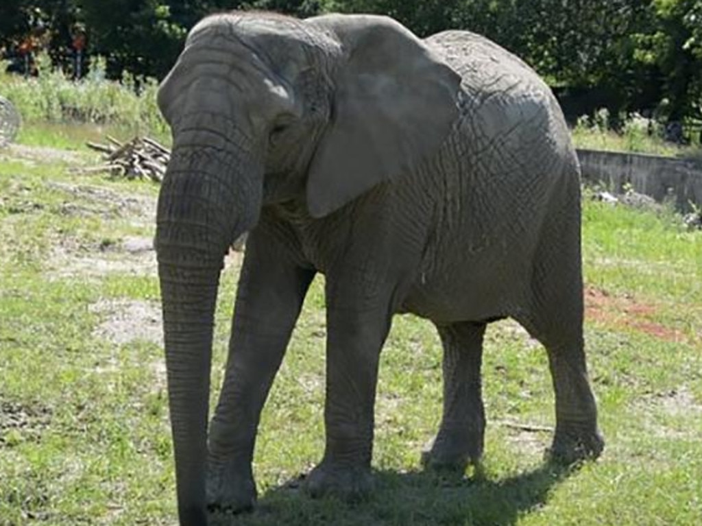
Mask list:
[[[183,522],[204,520],[227,247],[262,206],[297,199],[321,218],[429,157],[456,120],[459,82],[389,18],[232,13],[190,32],[158,96],[173,132],[156,242]]]

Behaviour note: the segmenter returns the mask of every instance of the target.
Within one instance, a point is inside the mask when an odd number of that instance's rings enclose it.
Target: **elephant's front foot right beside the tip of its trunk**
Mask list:
[[[207,508],[211,513],[251,511],[256,504],[256,483],[251,466],[210,461],[207,471]]]

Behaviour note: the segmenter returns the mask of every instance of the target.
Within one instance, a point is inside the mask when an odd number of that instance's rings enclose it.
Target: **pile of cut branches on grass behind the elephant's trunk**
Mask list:
[[[103,163],[85,171],[107,171],[112,177],[147,179],[160,183],[171,159],[171,150],[148,137],[135,137],[121,143],[106,136],[109,144],[86,143],[92,150],[102,152]]]

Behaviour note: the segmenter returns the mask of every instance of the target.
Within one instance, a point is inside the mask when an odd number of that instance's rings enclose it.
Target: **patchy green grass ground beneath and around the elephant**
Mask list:
[[[158,334],[157,279],[152,255],[123,247],[153,235],[157,187],[2,155],[0,525],[173,524],[162,350],[145,330]],[[289,483],[324,446],[317,280],[263,414],[258,511],[232,524],[697,525],[702,234],[672,213],[588,200],[583,246],[596,293],[586,340],[607,439],[600,461],[559,471],[542,462],[550,433],[507,424],[552,426],[553,395],[543,349],[501,322],[486,336],[484,478],[423,473],[420,449],[440,414],[440,348],[430,324],[402,316],[380,367],[376,492],[357,505],[300,494]],[[220,291],[216,384],[236,277],[234,259]]]

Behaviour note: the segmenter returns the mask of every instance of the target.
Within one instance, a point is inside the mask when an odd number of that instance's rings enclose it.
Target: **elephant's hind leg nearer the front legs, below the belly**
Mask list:
[[[485,410],[480,367],[485,323],[437,327],[444,346],[444,413],[425,467],[463,473],[483,452]]]

